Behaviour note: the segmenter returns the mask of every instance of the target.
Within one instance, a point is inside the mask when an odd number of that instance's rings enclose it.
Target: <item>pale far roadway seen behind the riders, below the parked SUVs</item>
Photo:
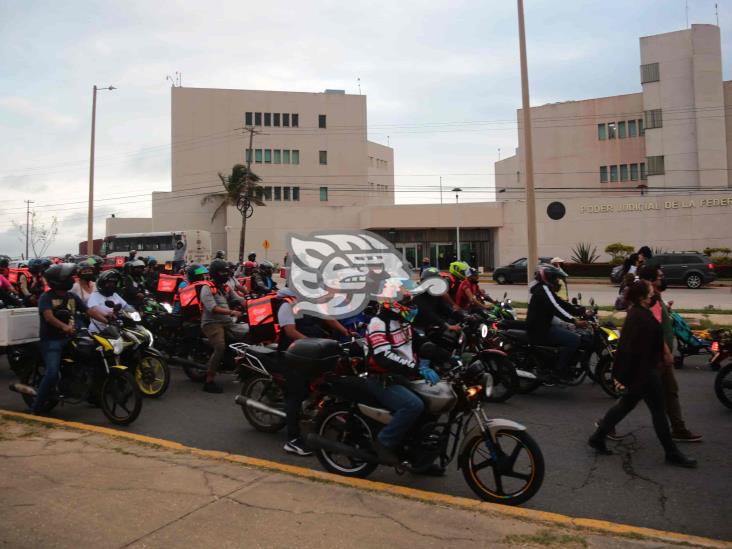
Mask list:
[[[481,287],[494,299],[502,297],[505,292],[514,301],[527,303],[529,300],[526,284],[482,284]],[[618,288],[610,284],[572,284],[570,279],[569,295],[575,297],[577,293],[582,294],[585,304],[594,297],[598,305],[612,306],[618,296]],[[707,305],[714,305],[717,309],[732,309],[732,286],[699,290],[671,287],[663,295],[666,300],[673,300],[676,309],[703,309]]]

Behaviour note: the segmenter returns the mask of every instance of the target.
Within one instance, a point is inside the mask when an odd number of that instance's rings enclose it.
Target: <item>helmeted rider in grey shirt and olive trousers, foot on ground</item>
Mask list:
[[[241,339],[243,333],[234,328],[234,318],[241,318],[242,312],[234,309],[243,304],[243,300],[232,292],[226,283],[231,278],[229,264],[223,259],[214,259],[208,266],[211,281],[200,286],[199,301],[201,303],[201,331],[213,348],[208,359],[208,370],[203,390],[208,393],[222,393],[223,389],[214,379],[221,359],[226,352],[226,338]]]

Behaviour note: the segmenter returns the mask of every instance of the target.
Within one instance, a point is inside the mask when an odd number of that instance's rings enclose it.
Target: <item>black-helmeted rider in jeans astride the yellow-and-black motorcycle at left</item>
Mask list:
[[[49,393],[58,382],[61,353],[69,338],[76,332],[77,315],[88,312],[94,319],[105,320],[104,315],[98,311],[87,310],[87,306],[79,296],[70,291],[74,285],[75,274],[76,265],[72,263],[53,265],[44,273],[51,289],[44,292],[38,300],[38,313],[39,346],[46,369],[31,406],[31,412],[34,414],[43,410]]]

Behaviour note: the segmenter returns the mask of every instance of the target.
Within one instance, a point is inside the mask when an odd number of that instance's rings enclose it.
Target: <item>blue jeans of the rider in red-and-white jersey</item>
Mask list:
[[[424,403],[417,395],[401,385],[387,385],[367,380],[369,392],[393,416],[389,424],[378,434],[379,442],[394,449],[404,439],[415,421],[422,415]]]

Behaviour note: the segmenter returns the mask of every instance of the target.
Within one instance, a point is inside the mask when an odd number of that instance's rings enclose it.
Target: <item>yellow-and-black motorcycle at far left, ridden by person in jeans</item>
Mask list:
[[[91,402],[116,425],[135,421],[142,410],[142,395],[132,372],[122,364],[129,344],[115,326],[95,334],[81,330],[64,349],[58,383],[41,412],[47,413],[59,403]],[[25,356],[14,367],[20,381],[12,383],[10,390],[20,393],[31,406],[44,370],[37,346],[26,347]]]

